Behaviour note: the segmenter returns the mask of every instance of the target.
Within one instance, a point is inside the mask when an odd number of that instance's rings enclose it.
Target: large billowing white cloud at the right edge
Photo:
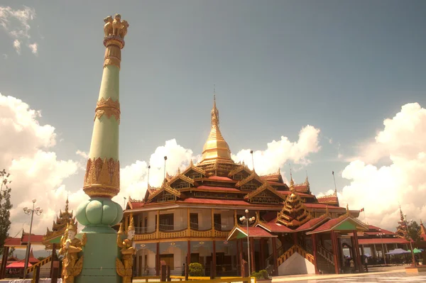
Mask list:
[[[371,143],[342,172],[351,184],[339,195],[342,204],[365,208],[366,221],[395,230],[398,204],[408,218],[426,219],[426,109],[405,104],[383,122]],[[387,158],[390,165],[378,166]],[[364,214],[361,214],[361,219]]]

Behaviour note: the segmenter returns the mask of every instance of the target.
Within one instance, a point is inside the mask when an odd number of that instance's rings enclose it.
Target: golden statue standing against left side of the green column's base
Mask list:
[[[78,258],[77,254],[86,245],[87,236],[83,234],[82,240],[75,238],[77,235],[77,223],[71,219],[67,224],[65,234],[60,239],[60,255],[65,255],[62,260],[62,282],[74,283],[75,277],[82,272],[83,257]]]

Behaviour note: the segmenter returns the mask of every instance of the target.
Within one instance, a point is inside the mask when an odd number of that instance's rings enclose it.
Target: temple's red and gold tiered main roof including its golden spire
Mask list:
[[[197,165],[191,161],[185,170],[178,170],[174,176],[166,174],[158,188],[148,186],[143,200],[129,197],[126,209],[144,210],[176,204],[256,209],[263,211],[259,219],[263,223],[273,221],[293,229],[321,216],[327,207],[334,216],[346,212],[346,209],[339,207],[337,194],[329,199],[317,198],[312,194],[307,177],[301,184],[294,184],[292,177],[289,187],[284,183],[279,169],[262,176],[244,162],[234,162],[229,145],[219,129],[219,111],[215,100],[211,111],[211,131],[204,144],[201,161]],[[266,220],[263,217],[268,211],[275,215]],[[351,213],[359,215],[359,211]]]

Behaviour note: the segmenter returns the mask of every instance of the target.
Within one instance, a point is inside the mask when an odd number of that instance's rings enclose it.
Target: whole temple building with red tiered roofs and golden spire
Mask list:
[[[179,275],[191,262],[200,262],[205,276],[241,275],[244,261],[251,272],[275,275],[342,273],[347,249],[362,271],[358,235],[369,229],[359,210],[339,206],[336,193],[312,194],[308,178],[285,184],[279,169],[262,176],[234,162],[215,100],[200,162],[166,174],[160,187],[148,184],[142,200],[129,197],[125,226],[131,216],[134,276],[159,274],[160,261]]]

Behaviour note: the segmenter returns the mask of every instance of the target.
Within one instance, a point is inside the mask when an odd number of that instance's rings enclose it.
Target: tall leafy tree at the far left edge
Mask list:
[[[11,228],[11,188],[9,184],[9,174],[6,170],[0,171],[0,250],[3,251],[4,240],[9,237],[9,228]]]

